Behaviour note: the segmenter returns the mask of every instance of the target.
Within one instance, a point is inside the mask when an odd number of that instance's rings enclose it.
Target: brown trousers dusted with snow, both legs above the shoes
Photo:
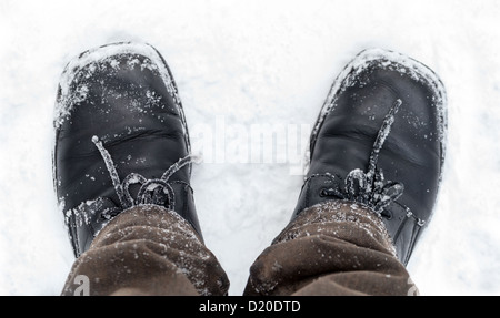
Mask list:
[[[121,213],[74,263],[62,295],[224,295],[228,278],[176,213]],[[384,226],[359,205],[328,202],[290,224],[256,260],[246,295],[408,295],[416,291]]]

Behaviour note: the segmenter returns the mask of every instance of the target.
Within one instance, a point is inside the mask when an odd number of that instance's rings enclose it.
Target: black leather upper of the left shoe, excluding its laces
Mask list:
[[[156,60],[164,62],[156,50],[153,52]],[[88,54],[82,53],[79,59],[88,58]],[[167,64],[158,65],[151,57],[133,52],[100,57],[98,49],[90,54],[97,57],[94,61],[64,70],[72,74],[66,76],[71,78],[70,83],[61,83],[69,88],[69,93],[62,96],[60,89],[58,94],[59,107],[68,109],[56,131],[54,150],[54,183],[64,213],[96,199],[120,206],[110,173],[92,142],[93,136],[98,136],[109,152],[121,181],[130,173],[148,179],[160,178],[172,164],[189,154],[180,101],[168,85],[177,88],[173,79],[172,83],[166,83],[166,75],[161,73],[161,70],[168,70]],[[189,186],[190,171],[190,165],[181,168],[169,182],[176,192],[174,211],[201,235]],[[139,187],[139,184],[130,186],[132,197]],[[92,227],[99,218],[89,206],[84,209],[92,218],[87,227],[80,226],[77,230],[81,250],[88,248],[84,236],[92,238]],[[70,218],[76,217],[67,214]],[[73,219],[68,224],[78,225]],[[72,230],[70,235],[73,234],[74,239],[77,233]]]

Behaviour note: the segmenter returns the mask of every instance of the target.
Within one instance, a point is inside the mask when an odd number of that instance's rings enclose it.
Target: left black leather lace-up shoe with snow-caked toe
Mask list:
[[[54,186],[78,257],[127,208],[172,209],[201,237],[178,90],[148,44],[89,50],[64,69],[56,103]]]

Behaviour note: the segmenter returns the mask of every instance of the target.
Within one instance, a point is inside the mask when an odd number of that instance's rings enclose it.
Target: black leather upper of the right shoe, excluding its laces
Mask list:
[[[338,85],[341,89],[334,92],[330,111],[320,116],[319,130],[311,136],[310,167],[292,219],[303,208],[334,198],[322,196],[321,189],[342,188],[349,172],[368,170],[378,132],[391,106],[401,100],[377,167],[386,181],[404,186],[402,196],[382,215],[406,264],[436,203],[443,161],[443,119],[433,83],[423,75],[401,72],[403,68],[408,65],[380,58],[338,79],[344,83]]]

